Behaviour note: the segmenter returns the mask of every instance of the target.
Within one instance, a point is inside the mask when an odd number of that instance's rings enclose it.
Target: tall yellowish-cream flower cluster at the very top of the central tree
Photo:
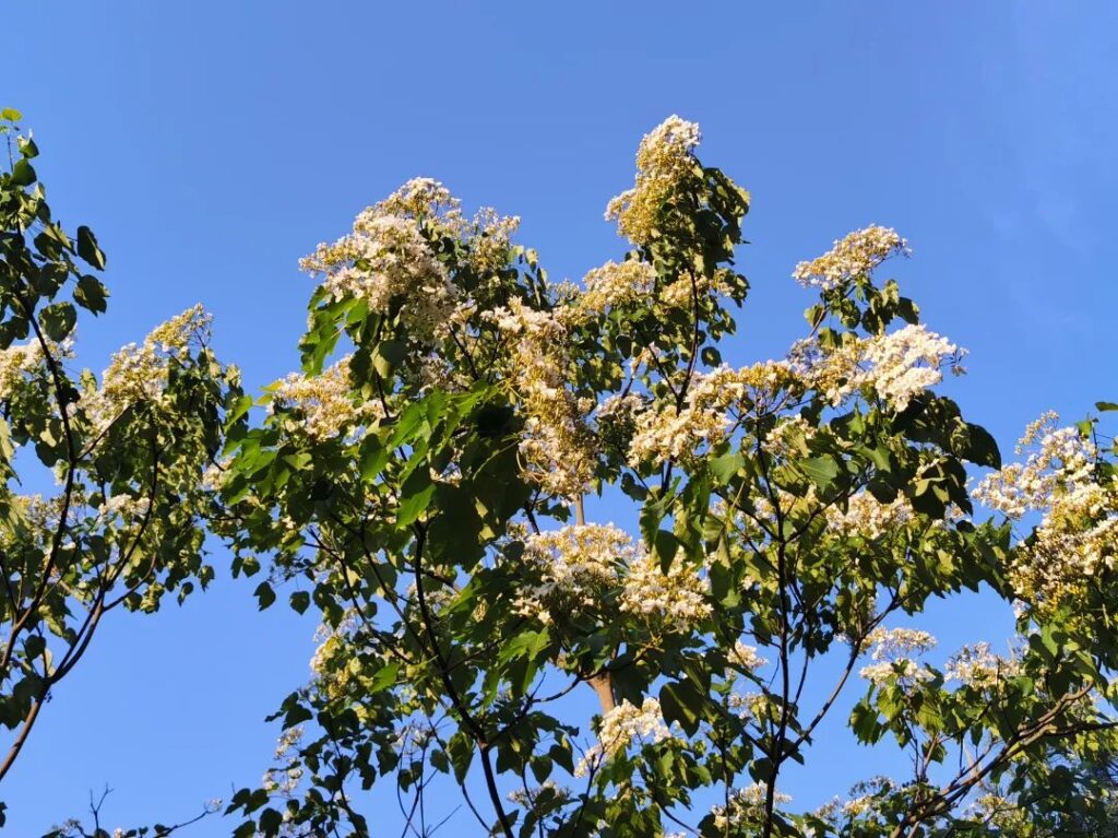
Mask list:
[[[671,115],[645,134],[636,153],[636,183],[606,207],[606,220],[634,244],[656,237],[660,210],[676,186],[698,166],[693,150],[699,125]]]

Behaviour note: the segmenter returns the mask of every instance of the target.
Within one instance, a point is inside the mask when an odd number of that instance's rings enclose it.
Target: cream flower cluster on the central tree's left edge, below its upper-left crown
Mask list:
[[[342,433],[360,433],[363,426],[385,415],[379,402],[354,397],[347,355],[319,375],[292,373],[269,388],[276,408],[293,412],[284,427],[312,440],[326,440]]]

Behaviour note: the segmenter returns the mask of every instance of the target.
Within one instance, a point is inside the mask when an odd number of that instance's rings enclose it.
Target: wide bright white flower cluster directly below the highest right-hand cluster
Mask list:
[[[888,335],[849,339],[824,350],[813,340],[798,341],[789,355],[792,368],[812,389],[837,407],[863,387],[870,387],[894,411],[944,380],[942,368],[956,375],[966,350],[922,324],[910,324]]]

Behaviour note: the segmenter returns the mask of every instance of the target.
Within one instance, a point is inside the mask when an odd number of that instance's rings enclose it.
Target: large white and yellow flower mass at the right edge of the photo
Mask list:
[[[1008,518],[1040,512],[1034,537],[1017,545],[1010,580],[1025,602],[1057,602],[1118,562],[1118,489],[1100,482],[1095,443],[1048,413],[1030,425],[1011,463],[987,476],[975,498]]]

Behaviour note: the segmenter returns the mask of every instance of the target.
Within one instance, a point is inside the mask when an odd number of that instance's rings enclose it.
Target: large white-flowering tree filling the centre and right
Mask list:
[[[369,835],[386,782],[415,835],[453,782],[510,838],[1041,835],[1101,799],[1076,766],[1114,724],[1114,449],[1048,416],[1003,467],[934,389],[963,350],[878,279],[907,253],[883,227],[797,266],[817,302],[785,358],[721,364],[749,196],[698,145],[674,116],[644,138],[607,209],[632,247],[582,288],[425,179],[304,261],[303,369],[231,413],[217,526],[322,644],[238,836]],[[1016,648],[930,666],[897,622],[964,589],[1015,604]],[[795,811],[781,776],[859,689],[853,734],[911,775]]]

